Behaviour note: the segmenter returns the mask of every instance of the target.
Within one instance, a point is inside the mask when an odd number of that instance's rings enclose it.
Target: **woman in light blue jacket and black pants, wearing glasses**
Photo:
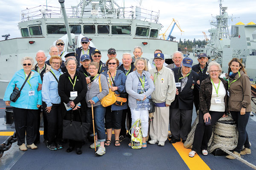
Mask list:
[[[58,95],[58,80],[61,74],[61,57],[53,55],[49,59],[51,70],[44,75],[42,85],[43,110],[47,116],[49,140],[47,147],[49,150],[62,149],[62,116],[61,98]]]

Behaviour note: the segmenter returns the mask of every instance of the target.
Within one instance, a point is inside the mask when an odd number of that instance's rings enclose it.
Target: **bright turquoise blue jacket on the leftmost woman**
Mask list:
[[[32,89],[30,89],[30,85],[28,82],[25,83],[23,89],[20,92],[20,97],[16,100],[16,102],[11,101],[11,106],[15,108],[23,108],[23,109],[35,109],[37,110],[37,105],[42,105],[42,94],[41,91],[37,91],[38,83],[42,84],[42,80],[40,74],[38,72],[32,70],[35,74],[29,79]],[[24,70],[21,69],[17,71],[12,77],[9,85],[6,88],[6,92],[4,94],[3,100],[10,101],[10,96],[15,88],[15,84],[17,84],[17,88],[21,88],[23,83],[25,82],[25,73]],[[29,96],[29,91],[35,91],[34,96]]]

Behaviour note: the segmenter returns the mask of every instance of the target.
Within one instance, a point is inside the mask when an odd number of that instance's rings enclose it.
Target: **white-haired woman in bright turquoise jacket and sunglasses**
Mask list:
[[[34,60],[31,57],[21,59],[23,69],[17,71],[9,85],[6,88],[3,100],[6,105],[13,107],[15,130],[17,134],[19,149],[26,151],[27,147],[37,149],[33,143],[36,138],[37,113],[42,105],[42,94],[38,91],[38,83],[42,83],[40,74],[32,70]],[[15,102],[10,102],[10,96],[14,88],[20,89],[29,77],[20,91],[20,97]],[[25,135],[27,146],[25,145]]]

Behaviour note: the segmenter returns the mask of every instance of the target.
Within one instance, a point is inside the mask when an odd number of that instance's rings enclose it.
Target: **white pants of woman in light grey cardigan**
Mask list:
[[[133,125],[137,119],[141,119],[142,136],[148,136],[148,111],[135,111],[131,109],[131,125]],[[134,133],[134,128],[131,128],[131,134]]]

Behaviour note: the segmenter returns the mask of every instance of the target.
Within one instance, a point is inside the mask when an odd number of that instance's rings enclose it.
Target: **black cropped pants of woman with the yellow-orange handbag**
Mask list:
[[[111,106],[106,107],[105,126],[106,129],[121,129],[122,110],[112,111]]]

